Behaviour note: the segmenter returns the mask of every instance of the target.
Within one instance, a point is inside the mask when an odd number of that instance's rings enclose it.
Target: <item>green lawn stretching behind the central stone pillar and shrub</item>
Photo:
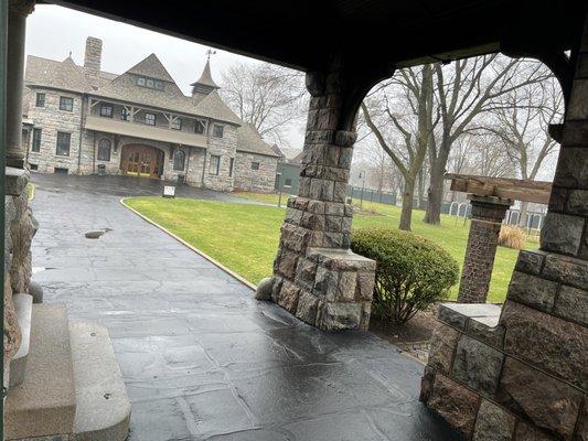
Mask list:
[[[249,198],[256,197],[249,195]],[[271,273],[284,208],[180,197],[132,197],[126,203],[253,283]],[[354,228],[398,226],[398,207],[364,202],[363,209],[354,216]],[[367,209],[381,214],[367,214]],[[442,225],[436,227],[423,223],[423,214],[418,211],[413,214],[414,233],[442,246],[461,265],[469,225],[463,226],[462,220],[456,225],[455,218],[443,216]],[[536,248],[536,241],[530,241],[528,247]],[[516,256],[516,250],[499,248],[489,301],[504,300]],[[451,291],[452,299],[457,297],[457,288]]]

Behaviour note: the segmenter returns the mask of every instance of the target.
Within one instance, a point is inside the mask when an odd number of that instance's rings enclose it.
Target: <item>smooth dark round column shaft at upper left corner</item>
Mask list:
[[[34,1],[10,0],[7,54],[7,165],[24,168],[22,147],[22,88],[24,79],[24,37],[26,15]]]

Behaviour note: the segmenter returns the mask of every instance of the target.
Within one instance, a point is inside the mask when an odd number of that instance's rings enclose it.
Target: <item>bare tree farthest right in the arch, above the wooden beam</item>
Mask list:
[[[494,123],[485,130],[498,138],[521,179],[535,180],[547,157],[557,150],[547,128],[562,120],[563,110],[559,84],[550,78],[512,90],[492,111]],[[525,202],[521,204],[522,225],[526,223],[527,206]]]

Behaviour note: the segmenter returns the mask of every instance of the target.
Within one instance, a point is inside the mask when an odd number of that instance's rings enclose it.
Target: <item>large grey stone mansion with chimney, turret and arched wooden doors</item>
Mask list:
[[[278,154],[222,100],[210,62],[185,96],[154,54],[120,75],[100,71],[101,46],[86,40],[83,66],[71,56],[26,58],[23,144],[31,170],[274,190]]]

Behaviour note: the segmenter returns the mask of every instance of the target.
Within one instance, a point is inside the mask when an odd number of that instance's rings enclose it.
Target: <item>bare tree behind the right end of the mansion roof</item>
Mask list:
[[[232,65],[221,94],[240,119],[270,142],[284,142],[288,125],[302,117],[304,76],[268,63]]]

